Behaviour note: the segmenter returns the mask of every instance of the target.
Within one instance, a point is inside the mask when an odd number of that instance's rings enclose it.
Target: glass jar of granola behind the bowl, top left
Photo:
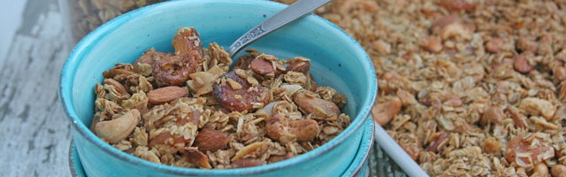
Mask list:
[[[96,27],[121,14],[166,0],[59,0],[70,41],[77,43]]]

